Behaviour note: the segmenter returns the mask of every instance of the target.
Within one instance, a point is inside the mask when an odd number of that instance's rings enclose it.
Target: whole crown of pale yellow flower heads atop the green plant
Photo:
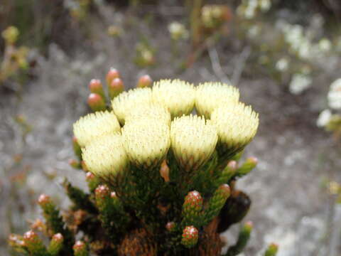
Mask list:
[[[193,111],[197,115],[191,114]],[[111,179],[132,164],[160,166],[169,149],[186,171],[200,168],[215,150],[235,154],[251,142],[258,114],[239,102],[236,87],[160,80],[121,92],[112,111],[81,117],[74,134],[89,171]]]

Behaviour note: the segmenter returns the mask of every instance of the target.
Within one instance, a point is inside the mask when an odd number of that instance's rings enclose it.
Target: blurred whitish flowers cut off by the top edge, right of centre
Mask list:
[[[251,19],[257,11],[266,12],[271,8],[271,0],[244,0],[237,8],[237,14],[243,18]]]

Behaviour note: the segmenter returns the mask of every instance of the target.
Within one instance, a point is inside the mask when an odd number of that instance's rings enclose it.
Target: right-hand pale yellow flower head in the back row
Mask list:
[[[237,103],[239,90],[221,82],[205,82],[196,87],[195,109],[197,114],[210,118],[213,110],[221,105]]]

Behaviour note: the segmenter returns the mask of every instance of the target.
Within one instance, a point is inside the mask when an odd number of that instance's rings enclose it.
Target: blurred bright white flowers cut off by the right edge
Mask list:
[[[341,110],[341,78],[338,78],[330,84],[327,98],[328,106],[331,110],[326,109],[320,113],[316,121],[318,127],[326,127],[332,119],[341,118],[340,114],[332,114],[332,110]]]

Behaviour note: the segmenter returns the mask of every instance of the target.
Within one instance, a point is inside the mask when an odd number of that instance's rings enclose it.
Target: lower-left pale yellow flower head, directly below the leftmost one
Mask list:
[[[121,134],[108,134],[95,139],[82,149],[82,158],[92,174],[106,181],[112,181],[128,163]]]

